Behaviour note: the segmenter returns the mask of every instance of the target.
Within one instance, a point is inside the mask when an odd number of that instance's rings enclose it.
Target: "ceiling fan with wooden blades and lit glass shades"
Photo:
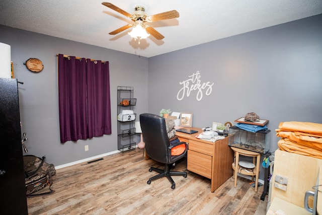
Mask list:
[[[125,31],[128,28],[134,27],[131,32],[128,34],[135,38],[135,39],[145,39],[149,34],[151,34],[153,37],[155,37],[158,40],[162,40],[165,38],[162,34],[160,34],[158,31],[156,31],[154,28],[148,25],[144,25],[145,22],[156,22],[159,20],[167,20],[167,19],[174,19],[179,17],[179,13],[176,10],[173,11],[168,11],[160,14],[155,14],[151,16],[147,16],[146,13],[144,12],[145,9],[143,6],[136,6],[134,8],[134,12],[132,14],[127,13],[126,11],[123,11],[122,9],[118,8],[117,6],[108,3],[108,2],[103,2],[102,5],[105,5],[106,7],[130,18],[132,21],[134,21],[133,24],[128,24],[125,25],[121,28],[118,28],[109,34],[115,35],[118,34],[122,31]],[[139,33],[137,33],[139,31]],[[148,32],[149,34],[147,34]]]

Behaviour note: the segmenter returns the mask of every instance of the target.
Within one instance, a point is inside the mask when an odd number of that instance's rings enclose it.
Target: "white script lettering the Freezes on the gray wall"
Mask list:
[[[199,71],[193,73],[191,76],[188,77],[189,79],[187,79],[186,81],[179,82],[179,84],[182,85],[182,88],[179,90],[177,94],[177,99],[179,101],[183,100],[185,96],[189,97],[192,91],[197,91],[197,101],[200,101],[202,99],[203,90],[206,90],[205,93],[207,96],[211,94],[212,86],[214,83],[210,84],[210,82],[207,82],[201,84],[201,75]]]

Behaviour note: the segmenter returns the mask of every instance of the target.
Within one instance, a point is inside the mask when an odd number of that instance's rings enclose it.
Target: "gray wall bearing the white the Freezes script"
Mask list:
[[[179,101],[179,82],[196,71],[214,83],[211,94]],[[321,92],[322,15],[149,58],[150,112],[192,112],[196,127],[256,112],[269,120],[271,152],[280,122],[322,123]]]

